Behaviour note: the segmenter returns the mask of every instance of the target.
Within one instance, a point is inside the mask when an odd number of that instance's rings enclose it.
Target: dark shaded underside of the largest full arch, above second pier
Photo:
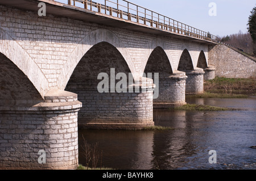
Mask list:
[[[76,65],[65,89],[70,89],[75,83],[80,87],[93,87],[97,89],[97,77],[100,73],[106,73],[110,78],[110,69],[115,69],[116,73],[125,73],[129,78],[131,73],[125,58],[112,44],[102,41],[90,48]]]

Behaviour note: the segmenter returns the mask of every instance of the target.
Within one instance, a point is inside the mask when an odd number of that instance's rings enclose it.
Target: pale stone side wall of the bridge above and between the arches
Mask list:
[[[51,14],[39,17],[37,12],[13,9],[2,5],[0,6],[0,29],[3,35],[7,34],[10,36],[11,39],[27,53],[28,57],[32,58],[32,61],[38,65],[38,68],[48,81],[49,89],[63,90],[65,88],[63,86],[68,82],[69,77],[65,79],[63,77],[60,78],[61,73],[67,73],[66,71],[63,72],[63,68],[73,65],[73,62],[68,62],[70,61],[69,58],[72,52],[76,51],[78,45],[84,43],[86,37],[89,38],[92,32],[96,30],[103,32],[108,30],[113,32],[113,35],[122,43],[120,47],[118,47],[118,50],[124,50],[123,52],[126,52],[122,53],[122,56],[130,66],[131,72],[143,72],[148,57],[155,48],[154,42],[156,39],[162,41],[162,48],[166,51],[173,70],[177,70],[180,56],[184,49],[188,49],[195,66],[197,65],[201,50],[203,50],[205,54],[208,53],[208,46],[206,44],[174,39],[172,37],[155,36],[141,32],[131,32],[122,28],[86,23],[79,20],[53,16]],[[109,35],[109,33],[106,35]],[[109,40],[108,37],[101,35],[92,38],[97,41],[113,40]],[[0,50],[1,48],[5,49],[6,47],[1,46],[6,45],[7,41],[10,40],[3,38],[1,41]],[[82,44],[82,46],[87,45]],[[81,50],[82,49],[77,49],[78,52]],[[87,51],[86,48],[85,50]],[[85,54],[86,52],[81,53]],[[5,56],[8,57],[6,54]],[[27,60],[28,58],[19,61],[24,63]],[[27,68],[29,68],[29,66],[24,66],[21,69]],[[30,71],[33,70],[34,69],[31,69]],[[73,70],[70,71],[72,72]],[[67,75],[63,76],[65,77]],[[63,81],[66,82],[63,83]],[[35,82],[32,83],[35,84]],[[46,90],[38,91],[41,93]]]

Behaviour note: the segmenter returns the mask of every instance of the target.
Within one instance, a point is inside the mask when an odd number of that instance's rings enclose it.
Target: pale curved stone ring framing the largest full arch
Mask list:
[[[123,45],[122,41],[118,38],[118,36],[115,35],[112,31],[106,29],[97,29],[88,33],[88,35],[84,37],[84,39],[69,55],[67,63],[64,65],[64,68],[62,69],[57,80],[57,85],[60,90],[65,89],[73,71],[79,64],[81,58],[86,54],[86,52],[88,52],[94,45],[97,45],[101,42],[106,42],[113,45],[113,47],[115,47],[125,59],[129,69],[131,70],[131,73],[135,74],[136,70],[133,64],[133,60],[125,45]]]

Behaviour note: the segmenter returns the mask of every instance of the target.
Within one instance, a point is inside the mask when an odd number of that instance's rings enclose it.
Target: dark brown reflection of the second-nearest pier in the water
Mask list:
[[[152,169],[154,131],[80,130],[79,137],[82,135],[90,144],[98,142],[99,150],[102,150],[102,166],[115,169]],[[79,145],[83,144],[79,140]],[[79,157],[80,163],[86,165],[81,152]]]

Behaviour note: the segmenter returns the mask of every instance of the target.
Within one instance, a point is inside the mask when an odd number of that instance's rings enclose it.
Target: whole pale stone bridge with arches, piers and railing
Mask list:
[[[38,15],[39,2],[46,16]],[[153,107],[185,104],[186,93],[203,92],[204,79],[214,78],[208,45],[215,37],[165,16],[147,18],[146,9],[143,16],[129,7],[49,0],[1,0],[0,9],[1,169],[75,169],[78,125],[154,125]],[[112,68],[131,73],[128,86],[139,91],[99,93],[98,74]],[[143,73],[159,73],[158,85]]]

